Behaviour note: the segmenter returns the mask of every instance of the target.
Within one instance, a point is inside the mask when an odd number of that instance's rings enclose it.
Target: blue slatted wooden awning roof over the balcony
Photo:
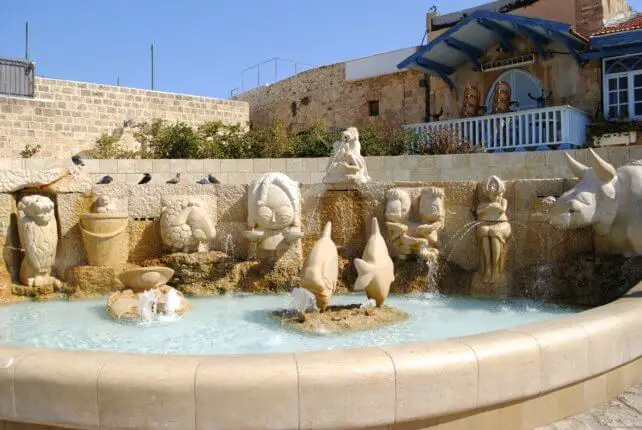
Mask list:
[[[491,46],[501,44],[513,52],[512,40],[527,38],[540,57],[551,44],[561,45],[578,64],[587,40],[575,33],[570,25],[538,18],[476,10],[437,36],[427,45],[397,65],[399,69],[413,69],[439,76],[452,89],[450,75],[466,62],[481,69],[479,58]]]

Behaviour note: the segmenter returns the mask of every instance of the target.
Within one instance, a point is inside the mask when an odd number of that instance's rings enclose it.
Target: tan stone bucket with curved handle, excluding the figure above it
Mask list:
[[[80,231],[91,266],[120,266],[127,247],[125,213],[86,213],[80,216]]]

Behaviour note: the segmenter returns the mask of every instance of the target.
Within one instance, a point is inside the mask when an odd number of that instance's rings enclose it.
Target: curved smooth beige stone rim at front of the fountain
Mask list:
[[[553,412],[540,405],[550,422],[642,381],[641,328],[642,282],[615,302],[555,320],[373,348],[175,356],[4,345],[0,420],[68,428],[425,426],[506,408],[526,414],[533,402],[562,396]]]

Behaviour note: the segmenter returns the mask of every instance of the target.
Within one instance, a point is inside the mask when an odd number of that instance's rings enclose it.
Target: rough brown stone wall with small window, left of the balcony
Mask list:
[[[253,125],[283,121],[292,131],[324,119],[330,127],[377,124],[400,127],[425,118],[424,76],[404,71],[376,78],[346,81],[345,63],[307,70],[235,97],[250,105]],[[369,101],[379,102],[379,115],[369,116]]]

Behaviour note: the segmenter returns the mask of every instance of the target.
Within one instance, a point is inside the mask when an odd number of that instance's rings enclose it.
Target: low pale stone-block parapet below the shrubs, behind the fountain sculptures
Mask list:
[[[489,175],[503,179],[564,178],[570,175],[564,151],[470,155],[413,155],[366,157],[368,172],[375,181],[481,181]],[[598,154],[615,166],[642,159],[642,146],[598,148]],[[587,150],[569,151],[586,161]],[[241,159],[241,160],[86,160],[83,168],[93,179],[111,175],[115,182],[136,183],[149,172],[152,183],[163,184],[180,172],[183,184],[193,184],[208,173],[222,183],[247,184],[265,172],[284,172],[302,184],[322,182],[328,158]],[[0,158],[0,170],[42,170],[68,166],[68,159]]]

